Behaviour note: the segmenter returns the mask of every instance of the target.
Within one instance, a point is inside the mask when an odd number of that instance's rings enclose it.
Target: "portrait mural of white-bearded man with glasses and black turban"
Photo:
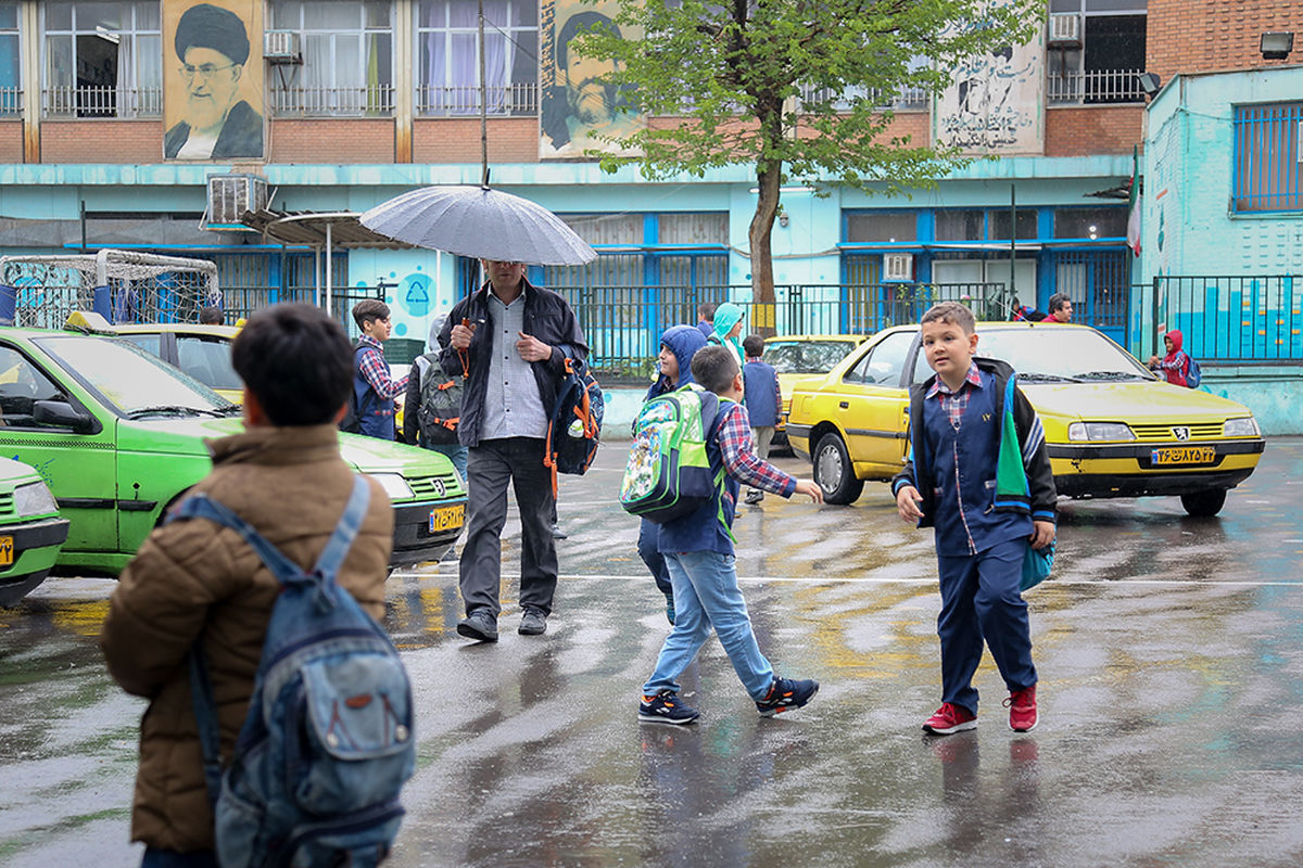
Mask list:
[[[176,51],[165,79],[163,156],[262,159],[262,4],[163,8],[164,42],[171,36]]]

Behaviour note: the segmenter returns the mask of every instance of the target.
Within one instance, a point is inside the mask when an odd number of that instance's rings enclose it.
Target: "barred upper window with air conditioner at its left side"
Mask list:
[[[270,77],[278,116],[386,117],[394,113],[390,0],[276,0],[271,29],[300,34],[304,64]]]

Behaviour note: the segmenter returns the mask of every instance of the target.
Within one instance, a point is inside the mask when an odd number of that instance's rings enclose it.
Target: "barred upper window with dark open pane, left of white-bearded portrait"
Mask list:
[[[163,115],[156,1],[44,3],[42,16],[46,117]]]

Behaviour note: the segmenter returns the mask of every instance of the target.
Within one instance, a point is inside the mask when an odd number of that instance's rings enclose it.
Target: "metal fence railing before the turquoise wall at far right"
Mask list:
[[[1303,275],[1166,276],[1131,289],[1132,354],[1162,355],[1162,334],[1213,363],[1303,360]]]

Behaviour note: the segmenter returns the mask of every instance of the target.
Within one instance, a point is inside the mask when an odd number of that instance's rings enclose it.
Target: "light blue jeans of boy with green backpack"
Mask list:
[[[764,699],[774,681],[774,668],[752,632],[734,556],[675,552],[665,556],[665,565],[674,586],[674,630],[661,645],[655,671],[642,692],[648,696],[663,690],[679,692],[679,675],[701,651],[713,627],[743,687],[752,699]]]

